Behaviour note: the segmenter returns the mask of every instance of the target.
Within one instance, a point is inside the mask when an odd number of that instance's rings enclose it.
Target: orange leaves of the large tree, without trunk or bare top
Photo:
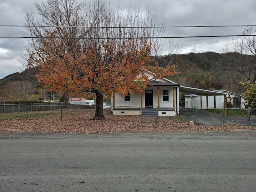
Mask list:
[[[154,68],[151,75],[155,79],[176,74],[175,65],[158,66],[152,59],[151,45],[146,39],[141,39],[139,45],[131,39],[122,43],[109,39],[100,48],[92,44],[90,49],[78,52],[63,48],[62,40],[58,38],[42,41],[44,48],[37,54],[32,53],[31,61],[41,67],[38,80],[55,92],[141,93],[150,82],[145,70]],[[32,62],[28,65],[32,66]]]

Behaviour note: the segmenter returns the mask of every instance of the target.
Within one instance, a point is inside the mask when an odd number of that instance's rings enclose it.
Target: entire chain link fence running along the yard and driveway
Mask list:
[[[193,121],[197,125],[222,126],[227,124],[238,124],[242,126],[256,126],[256,108],[227,108],[227,109],[199,109],[199,108],[142,108],[104,105],[104,112],[108,117],[122,121],[159,122],[160,116],[180,115],[186,121]],[[105,110],[108,108],[108,110]],[[66,110],[66,109],[69,109]],[[4,103],[0,104],[0,118],[32,118],[42,116],[48,111],[49,116],[60,116],[62,119],[68,116],[70,109],[88,109],[86,113],[90,118],[94,116],[94,105],[81,105],[64,102],[42,102],[42,103]],[[177,114],[176,114],[177,113]],[[113,116],[114,115],[114,116]]]

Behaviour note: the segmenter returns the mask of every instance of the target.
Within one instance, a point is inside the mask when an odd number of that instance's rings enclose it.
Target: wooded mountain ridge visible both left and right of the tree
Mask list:
[[[177,65],[179,74],[168,77],[170,80],[183,86],[208,90],[225,89],[237,94],[244,92],[240,82],[245,82],[245,73],[250,73],[250,71],[246,71],[246,66],[244,71],[237,66],[248,65],[250,59],[252,62],[254,61],[253,56],[247,56],[245,63],[241,54],[215,52],[180,54],[176,57],[165,56],[164,60],[171,61],[172,58],[174,58],[172,62]],[[161,63],[161,59],[159,59],[159,63],[160,66],[165,67]],[[6,90],[10,89],[13,82],[30,82],[33,84],[34,94],[38,94],[42,87],[36,79],[37,71],[37,67],[30,68],[1,79],[0,100],[6,100]]]

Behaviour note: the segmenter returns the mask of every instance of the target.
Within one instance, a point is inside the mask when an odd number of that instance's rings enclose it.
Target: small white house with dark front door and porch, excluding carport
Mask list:
[[[153,77],[152,77],[153,78]],[[142,94],[112,97],[114,115],[175,116],[179,110],[179,84],[166,78],[153,79]]]

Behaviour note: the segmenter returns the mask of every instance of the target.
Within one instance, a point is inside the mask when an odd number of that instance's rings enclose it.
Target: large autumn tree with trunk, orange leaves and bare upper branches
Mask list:
[[[154,78],[175,73],[156,57],[164,25],[151,10],[112,9],[102,0],[46,0],[35,3],[40,20],[26,13],[28,66],[40,66],[38,80],[53,91],[94,92],[94,119],[102,119],[103,94],[143,92]],[[154,37],[154,38],[152,38]],[[25,54],[23,55],[25,56]]]

